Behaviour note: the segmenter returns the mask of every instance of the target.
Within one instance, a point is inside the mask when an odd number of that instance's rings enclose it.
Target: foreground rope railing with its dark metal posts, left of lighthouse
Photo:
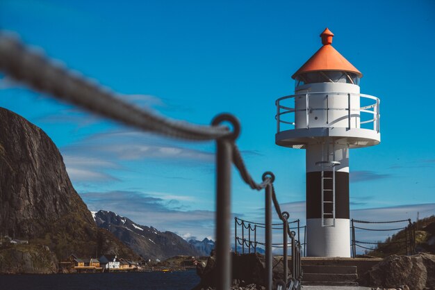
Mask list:
[[[40,53],[28,49],[17,38],[0,33],[0,70],[17,81],[22,81],[34,90],[48,93],[56,99],[79,106],[117,122],[136,127],[143,131],[172,138],[188,140],[216,141],[216,268],[217,290],[231,287],[231,165],[236,166],[242,179],[252,189],[265,189],[265,287],[272,289],[272,201],[283,223],[287,217],[279,209],[272,183],[274,175],[265,172],[262,182],[257,184],[245,164],[236,145],[240,133],[238,120],[229,114],[217,115],[211,126],[190,124],[180,120],[170,120],[151,109],[142,109],[121,99],[121,95],[86,79],[77,72],[67,70],[58,62],[51,61]],[[222,123],[229,122],[232,131]],[[286,224],[287,225],[287,224]],[[293,276],[291,288],[299,289],[302,273],[300,271],[301,245],[295,239],[295,232],[284,227],[284,236],[290,236],[292,243]],[[284,245],[287,243],[284,242]],[[287,280],[287,275],[284,277]]]

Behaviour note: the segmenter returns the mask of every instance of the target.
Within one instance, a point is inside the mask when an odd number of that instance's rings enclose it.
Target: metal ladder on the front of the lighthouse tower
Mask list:
[[[322,147],[323,149],[323,147]],[[323,151],[323,150],[322,150]],[[327,142],[327,161],[319,161],[316,162],[316,165],[322,166],[322,171],[320,175],[320,183],[321,183],[321,200],[320,202],[322,207],[322,227],[335,227],[336,226],[336,166],[340,165],[340,162],[334,161],[335,153],[334,153],[334,143],[332,144],[332,150],[329,151],[329,140]],[[322,152],[322,159],[323,159]],[[331,158],[329,158],[331,157]],[[331,161],[329,161],[331,160]],[[325,167],[330,167],[332,170],[325,170]],[[325,176],[325,172],[332,172],[331,176]],[[331,180],[331,182],[326,181]],[[331,186],[326,186],[326,185]],[[326,209],[325,209],[326,207]],[[332,223],[327,223],[327,220],[332,220]]]

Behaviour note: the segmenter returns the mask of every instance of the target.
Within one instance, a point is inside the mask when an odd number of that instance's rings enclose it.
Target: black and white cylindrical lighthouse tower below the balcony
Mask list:
[[[334,145],[334,154],[328,154],[327,146],[321,146],[306,150],[307,256],[350,257],[348,149]],[[331,160],[331,156],[338,166],[319,166],[315,162]]]

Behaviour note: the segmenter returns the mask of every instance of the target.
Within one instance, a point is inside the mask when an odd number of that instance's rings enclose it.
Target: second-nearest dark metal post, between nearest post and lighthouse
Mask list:
[[[266,290],[272,290],[272,186],[265,188],[265,266]]]

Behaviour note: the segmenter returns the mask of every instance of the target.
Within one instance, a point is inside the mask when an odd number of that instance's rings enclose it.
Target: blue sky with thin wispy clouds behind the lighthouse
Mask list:
[[[353,216],[388,220],[435,212],[434,1],[3,0],[0,28],[51,58],[171,118],[209,124],[230,112],[252,175],[266,170],[291,218],[304,219],[304,150],[274,145],[274,101],[290,76],[333,46],[381,99],[381,144],[351,150]],[[214,144],[133,131],[2,76],[0,106],[37,124],[63,154],[90,210],[183,236],[213,237]],[[237,172],[233,213],[262,220],[263,193]]]

